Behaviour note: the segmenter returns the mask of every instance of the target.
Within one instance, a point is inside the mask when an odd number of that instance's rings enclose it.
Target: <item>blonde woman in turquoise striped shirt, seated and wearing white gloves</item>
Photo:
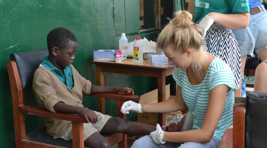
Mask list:
[[[157,39],[158,48],[176,66],[172,74],[178,84],[175,99],[144,105],[128,101],[121,112],[169,113],[188,106],[193,129],[165,132],[157,125],[156,131],[135,141],[133,148],[178,143],[179,148],[217,148],[226,128],[233,124],[234,75],[225,62],[204,51],[201,29],[191,20],[189,12],[178,11]]]

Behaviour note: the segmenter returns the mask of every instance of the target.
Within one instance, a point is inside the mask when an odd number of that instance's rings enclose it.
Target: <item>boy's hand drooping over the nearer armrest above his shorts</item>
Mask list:
[[[92,124],[95,124],[98,121],[96,113],[91,109],[81,108],[78,113],[87,123],[91,122]]]

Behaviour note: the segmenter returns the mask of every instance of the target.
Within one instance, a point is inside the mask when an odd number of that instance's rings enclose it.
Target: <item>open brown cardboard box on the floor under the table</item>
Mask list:
[[[174,99],[175,96],[170,95],[170,84],[166,85],[166,101]],[[146,94],[140,96],[140,104],[146,103],[157,103],[158,102],[158,89],[152,90]],[[181,111],[165,114],[165,124],[172,122],[176,118],[182,118],[183,114]],[[156,125],[158,123],[158,113],[141,113],[137,116],[137,122],[143,122],[147,124]],[[160,125],[163,126],[163,125]]]

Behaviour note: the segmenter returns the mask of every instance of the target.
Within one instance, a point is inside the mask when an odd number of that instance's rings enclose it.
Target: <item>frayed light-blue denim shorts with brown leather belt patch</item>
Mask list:
[[[263,5],[258,7],[261,12],[254,15],[250,13],[248,27],[233,30],[235,39],[239,45],[241,57],[244,55],[254,57],[254,49],[258,51],[267,46],[267,11]]]

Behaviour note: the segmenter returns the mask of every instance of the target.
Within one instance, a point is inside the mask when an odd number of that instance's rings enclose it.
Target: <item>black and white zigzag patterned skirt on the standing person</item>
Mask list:
[[[231,29],[217,23],[207,30],[204,46],[208,53],[222,59],[233,71],[235,88],[239,89],[241,81],[241,58],[238,43]]]

